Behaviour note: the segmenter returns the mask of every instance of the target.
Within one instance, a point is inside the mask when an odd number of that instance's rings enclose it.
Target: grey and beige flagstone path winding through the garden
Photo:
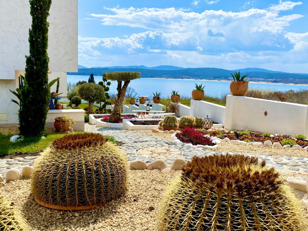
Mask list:
[[[193,156],[233,153],[255,156],[260,160],[265,160],[270,167],[308,175],[308,158],[304,157],[271,156],[242,152],[214,152],[204,148],[197,148],[197,146],[191,144],[176,144],[155,135],[124,132],[122,129],[117,128],[97,128],[95,125],[89,124],[85,124],[85,130],[86,132],[114,136],[115,139],[121,143],[120,148],[126,154],[129,163],[134,160],[143,160],[148,164],[154,160],[162,159],[170,167],[175,158],[183,158],[184,160],[189,161]],[[21,171],[23,166],[32,165],[33,160],[35,159],[36,156],[0,159],[0,176],[5,178],[5,173],[10,168],[17,168]]]

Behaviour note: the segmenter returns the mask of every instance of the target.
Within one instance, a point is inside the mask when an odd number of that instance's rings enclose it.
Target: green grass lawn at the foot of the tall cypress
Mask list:
[[[14,136],[13,134],[0,134],[0,156],[5,156],[15,152],[30,153],[41,151],[44,148],[47,148],[52,141],[64,135],[65,133],[46,133],[45,139],[30,137],[12,143],[10,142],[10,137]]]

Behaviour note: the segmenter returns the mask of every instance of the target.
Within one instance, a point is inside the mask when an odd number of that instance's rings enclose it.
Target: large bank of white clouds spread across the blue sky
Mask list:
[[[244,6],[251,7],[254,2],[247,1]],[[281,60],[284,63],[281,67],[287,68],[288,58],[307,63],[307,58],[299,53],[308,49],[308,32],[286,31],[291,22],[303,15],[279,13],[301,4],[280,1],[265,9],[252,8],[241,12],[205,10],[201,13],[176,8],[105,8],[111,14],[91,16],[100,19],[105,26],[138,27],[145,31],[123,38],[79,37],[79,59],[103,54],[124,60],[120,57],[129,54],[129,57],[147,57],[141,59],[146,61],[152,55],[160,57],[155,60],[160,60],[161,63],[156,63],[159,65],[180,65],[181,62],[184,66],[209,67],[225,63],[233,67],[236,63],[259,63],[264,68],[270,62],[279,66]],[[136,62],[136,59],[130,62]],[[295,61],[293,67],[296,67]]]

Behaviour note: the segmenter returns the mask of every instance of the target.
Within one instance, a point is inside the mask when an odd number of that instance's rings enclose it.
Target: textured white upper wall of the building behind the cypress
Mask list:
[[[31,26],[29,0],[0,0],[0,79],[25,69]],[[49,71],[78,71],[77,0],[53,0],[49,26]]]

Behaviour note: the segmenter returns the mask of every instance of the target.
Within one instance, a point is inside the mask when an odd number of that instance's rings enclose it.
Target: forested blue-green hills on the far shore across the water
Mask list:
[[[142,66],[144,67],[144,66]],[[173,66],[159,66],[155,68]],[[154,67],[153,67],[154,68]],[[178,67],[174,67],[178,68]],[[249,70],[249,71],[247,71]],[[78,69],[78,73],[67,73],[69,75],[93,75],[99,76],[106,72],[114,71],[136,71],[141,73],[142,78],[168,78],[168,79],[207,79],[207,80],[230,80],[230,72],[232,70],[225,70],[220,68],[182,68],[178,70],[157,70],[132,67],[92,67]],[[272,82],[272,83],[308,83],[308,74],[293,74],[279,71],[269,71],[261,68],[245,68],[240,69],[241,75],[249,73],[247,80],[256,82]]]

